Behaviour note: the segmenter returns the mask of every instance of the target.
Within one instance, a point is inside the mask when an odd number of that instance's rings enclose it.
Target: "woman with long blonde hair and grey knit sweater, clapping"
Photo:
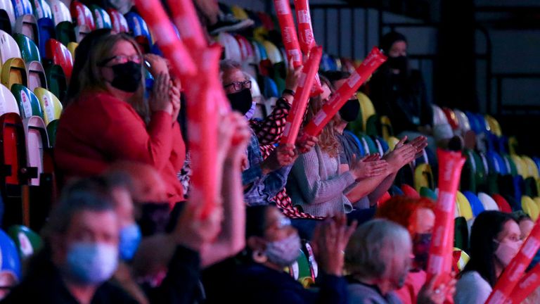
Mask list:
[[[314,118],[330,98],[328,82],[324,79],[321,82],[323,94],[311,98],[306,122]],[[319,143],[314,149],[297,159],[289,177],[287,190],[293,204],[299,205],[305,213],[318,217],[350,213],[349,218],[356,218],[362,222],[363,219],[365,221],[365,210],[354,210],[352,203],[359,201],[369,191],[364,195],[353,191],[356,182],[366,177],[386,177],[388,164],[385,160],[355,159],[350,167],[341,166],[341,159],[345,156],[338,137],[335,136],[338,119],[336,115],[324,127],[319,135]],[[370,216],[373,216],[373,213]]]

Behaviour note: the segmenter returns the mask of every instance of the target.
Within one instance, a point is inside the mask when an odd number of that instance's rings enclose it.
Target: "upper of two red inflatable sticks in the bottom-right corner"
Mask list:
[[[536,220],[536,224],[534,224],[531,234],[529,234],[529,237],[527,237],[521,246],[520,252],[515,255],[510,264],[504,269],[501,277],[497,280],[491,295],[489,295],[489,298],[486,301],[487,304],[518,303],[511,301],[510,296],[514,287],[518,284],[518,281],[522,279],[525,270],[529,267],[536,251],[540,248],[539,221],[540,219]]]

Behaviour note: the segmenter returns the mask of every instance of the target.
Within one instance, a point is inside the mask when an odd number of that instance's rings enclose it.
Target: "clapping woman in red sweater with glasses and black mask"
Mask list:
[[[174,204],[184,201],[176,172],[186,154],[176,122],[179,85],[164,60],[147,59],[155,78],[148,101],[144,58],[134,39],[104,31],[83,39],[58,125],[55,161],[65,179],[97,175],[117,160],[148,163],[167,182],[167,198]]]

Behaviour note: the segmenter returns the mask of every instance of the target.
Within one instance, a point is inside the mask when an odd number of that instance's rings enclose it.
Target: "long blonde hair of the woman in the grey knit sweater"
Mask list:
[[[325,77],[321,76],[321,84],[326,85],[330,91],[332,91],[332,86]],[[310,122],[315,115],[319,113],[324,106],[324,101],[321,98],[321,95],[314,96],[309,99],[309,105],[307,106],[306,120],[305,122]],[[335,134],[335,125],[339,122],[339,119],[335,116],[328,122],[328,125],[323,128],[321,134],[319,134],[319,147],[323,152],[326,152],[328,156],[335,158],[338,157],[340,153],[340,142],[338,137]]]

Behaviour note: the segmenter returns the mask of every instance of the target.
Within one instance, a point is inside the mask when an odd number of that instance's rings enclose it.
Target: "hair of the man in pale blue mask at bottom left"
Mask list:
[[[45,238],[64,235],[68,232],[72,218],[82,211],[114,212],[109,189],[101,177],[79,179],[66,186],[44,227]]]

